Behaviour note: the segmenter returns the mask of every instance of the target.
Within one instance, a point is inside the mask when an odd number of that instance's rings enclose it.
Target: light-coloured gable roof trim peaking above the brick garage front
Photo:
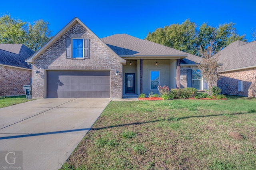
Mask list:
[[[122,59],[119,55],[117,55],[110,47],[108,47],[108,45],[106,45],[104,42],[102,42],[102,40],[100,40],[100,38],[98,38],[98,36],[96,36],[86,25],[84,25],[84,23],[82,23],[77,17],[75,17],[73,20],[71,20],[64,28],[62,28],[62,30],[60,30],[51,40],[49,40],[44,46],[42,46],[38,51],[36,51],[31,57],[29,57],[28,59],[26,59],[26,62],[28,63],[33,63],[34,60],[42,53],[44,53],[44,51],[50,47],[54,42],[56,42],[56,40],[58,40],[58,38],[60,38],[60,36],[62,36],[69,28],[71,28],[74,24],[76,24],[76,22],[78,22],[79,24],[81,24],[88,32],[90,32],[90,34],[92,34],[92,36],[94,36],[99,42],[101,42],[110,52],[112,52],[119,60],[120,63],[122,64],[126,64],[126,61],[124,59]]]

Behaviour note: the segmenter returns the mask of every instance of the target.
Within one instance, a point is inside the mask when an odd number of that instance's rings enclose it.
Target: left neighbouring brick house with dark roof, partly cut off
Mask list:
[[[33,53],[23,44],[0,44],[0,96],[25,94],[22,86],[32,78],[31,65],[25,59]]]

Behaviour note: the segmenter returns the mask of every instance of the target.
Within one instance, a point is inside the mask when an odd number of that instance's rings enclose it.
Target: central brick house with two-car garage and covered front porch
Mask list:
[[[199,58],[126,34],[100,39],[74,18],[26,62],[33,98],[122,98],[158,93],[158,85],[202,89],[192,79]]]

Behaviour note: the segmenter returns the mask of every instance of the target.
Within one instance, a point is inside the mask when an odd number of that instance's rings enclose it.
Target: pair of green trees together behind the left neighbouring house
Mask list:
[[[22,43],[37,51],[51,38],[48,26],[49,23],[44,20],[30,24],[4,15],[0,17],[0,43]]]

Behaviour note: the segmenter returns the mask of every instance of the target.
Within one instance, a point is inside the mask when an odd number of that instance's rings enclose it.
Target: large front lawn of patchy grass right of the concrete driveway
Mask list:
[[[249,170],[255,153],[255,98],[111,102],[62,169]]]

